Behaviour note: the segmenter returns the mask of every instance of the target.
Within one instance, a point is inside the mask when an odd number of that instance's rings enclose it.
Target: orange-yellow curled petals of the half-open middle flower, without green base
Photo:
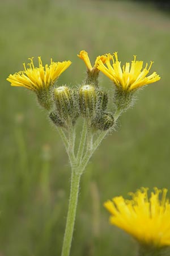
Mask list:
[[[84,60],[84,63],[86,64],[88,71],[93,71],[94,69],[96,69],[97,71],[97,65],[99,64],[99,60],[101,60],[102,63],[105,63],[105,61],[107,60],[107,57],[105,55],[97,56],[95,60],[95,65],[94,67],[92,67],[90,59],[88,57],[88,53],[86,51],[80,51],[78,57]]]

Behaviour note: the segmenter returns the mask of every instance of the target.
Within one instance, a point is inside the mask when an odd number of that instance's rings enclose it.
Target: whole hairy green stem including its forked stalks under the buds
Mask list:
[[[120,116],[121,112],[117,111],[114,115],[114,120]],[[94,154],[97,147],[99,147],[101,141],[108,134],[108,131],[101,131],[96,141],[93,143],[93,134],[90,129],[90,126],[86,119],[83,123],[82,135],[80,138],[80,143],[78,147],[77,155],[74,153],[75,146],[75,130],[72,125],[68,129],[68,138],[62,129],[58,129],[59,134],[65,144],[67,154],[69,155],[70,165],[71,165],[71,189],[70,189],[70,200],[69,200],[69,209],[67,213],[66,229],[65,236],[63,239],[62,254],[61,256],[69,256],[71,241],[73,238],[75,215],[76,215],[76,206],[78,203],[78,193],[79,193],[79,184],[80,177],[86,168],[88,161],[90,160],[92,154]]]

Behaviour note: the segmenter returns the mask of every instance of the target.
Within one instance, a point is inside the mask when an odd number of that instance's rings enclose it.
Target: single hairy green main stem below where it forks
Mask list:
[[[70,255],[71,241],[73,237],[75,214],[76,214],[76,205],[78,202],[80,176],[81,176],[80,173],[78,174],[74,170],[72,171],[69,210],[67,213],[66,229],[65,229],[65,236],[63,239],[61,256]]]

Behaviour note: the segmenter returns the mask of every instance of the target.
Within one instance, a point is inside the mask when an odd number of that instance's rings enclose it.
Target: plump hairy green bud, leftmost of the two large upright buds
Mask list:
[[[59,86],[54,89],[54,101],[58,117],[66,123],[71,119],[74,124],[79,115],[78,92],[67,86]]]

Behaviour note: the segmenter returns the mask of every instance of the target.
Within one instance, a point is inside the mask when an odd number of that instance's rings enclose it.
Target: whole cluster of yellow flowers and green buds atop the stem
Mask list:
[[[87,67],[86,81],[79,88],[68,88],[66,85],[58,86],[58,77],[70,66],[71,61],[54,62],[50,65],[42,64],[39,57],[39,67],[29,59],[28,68],[24,71],[8,76],[7,80],[12,86],[23,86],[37,94],[42,107],[49,112],[49,117],[57,126],[69,127],[74,125],[79,115],[87,119],[88,125],[96,130],[108,130],[114,125],[114,113],[107,111],[108,93],[99,87],[99,72],[103,72],[116,85],[113,104],[114,111],[119,114],[128,109],[134,98],[134,92],[141,86],[160,79],[156,72],[146,77],[150,67],[143,67],[143,61],[136,57],[121,68],[117,53],[97,56],[94,66],[86,51],[80,51],[78,57]],[[113,65],[111,65],[113,61]],[[118,114],[118,115],[119,115]],[[117,115],[117,116],[118,116]]]

